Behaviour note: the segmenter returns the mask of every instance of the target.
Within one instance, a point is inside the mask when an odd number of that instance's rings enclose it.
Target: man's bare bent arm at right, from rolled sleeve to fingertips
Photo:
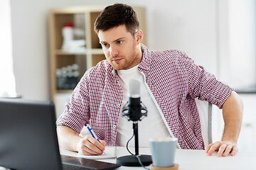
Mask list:
[[[237,142],[242,125],[243,104],[240,96],[235,91],[223,104],[224,132],[222,141],[206,146],[206,153],[213,154],[218,150],[218,157],[234,156],[238,152]]]

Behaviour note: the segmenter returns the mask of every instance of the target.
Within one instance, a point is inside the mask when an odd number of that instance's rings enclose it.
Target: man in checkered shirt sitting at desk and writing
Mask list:
[[[140,43],[143,33],[131,6],[107,6],[95,22],[95,32],[107,60],[85,72],[58,119],[61,147],[102,154],[105,145],[124,146],[132,125],[120,115],[127,102],[127,82],[137,79],[149,111],[139,122],[140,146],[146,146],[149,137],[171,136],[182,149],[206,149],[208,155],[218,150],[219,157],[238,152],[242,101],[233,89],[179,50],[149,51]],[[204,146],[195,98],[223,108],[222,141]],[[79,135],[87,123],[100,142]]]

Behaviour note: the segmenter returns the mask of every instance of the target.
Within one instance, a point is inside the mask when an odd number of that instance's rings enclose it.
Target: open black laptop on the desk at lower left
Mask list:
[[[0,99],[0,166],[18,170],[115,169],[119,164],[60,155],[51,101]]]

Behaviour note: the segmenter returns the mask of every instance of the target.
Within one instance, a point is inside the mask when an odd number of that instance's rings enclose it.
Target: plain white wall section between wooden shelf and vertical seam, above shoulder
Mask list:
[[[215,0],[149,1],[149,45],[179,49],[218,74]]]

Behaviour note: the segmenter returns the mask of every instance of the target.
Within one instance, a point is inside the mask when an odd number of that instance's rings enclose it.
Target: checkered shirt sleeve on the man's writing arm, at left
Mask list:
[[[80,133],[83,126],[87,125],[90,120],[90,98],[88,94],[87,73],[82,77],[75,87],[70,101],[65,105],[65,111],[58,118],[56,125],[68,126]]]

